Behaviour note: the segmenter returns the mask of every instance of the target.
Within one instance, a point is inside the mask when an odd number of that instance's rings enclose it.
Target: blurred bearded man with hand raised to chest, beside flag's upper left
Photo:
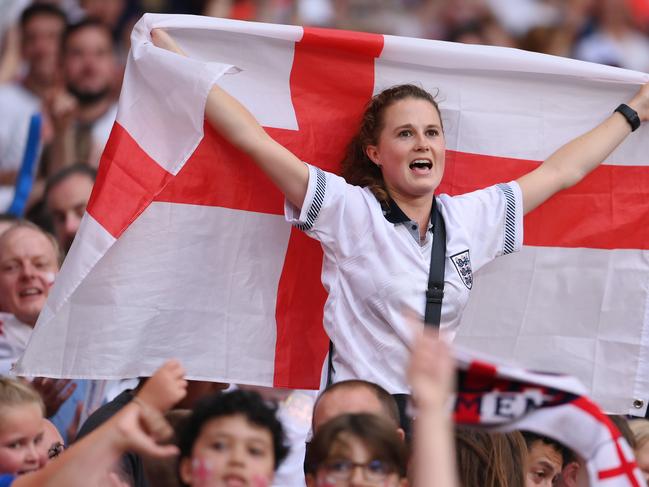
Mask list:
[[[105,24],[85,19],[71,25],[62,61],[67,91],[50,101],[55,139],[48,174],[75,163],[97,167],[117,113],[112,90],[117,62]]]

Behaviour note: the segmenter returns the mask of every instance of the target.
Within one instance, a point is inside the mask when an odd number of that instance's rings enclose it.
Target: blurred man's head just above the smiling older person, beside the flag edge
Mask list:
[[[70,250],[95,184],[97,171],[83,164],[61,169],[47,180],[45,207],[61,250]]]

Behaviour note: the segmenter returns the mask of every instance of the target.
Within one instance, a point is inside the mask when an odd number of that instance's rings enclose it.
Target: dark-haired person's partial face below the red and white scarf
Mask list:
[[[526,487],[552,487],[559,482],[563,467],[575,459],[569,448],[547,436],[523,431],[527,445]]]

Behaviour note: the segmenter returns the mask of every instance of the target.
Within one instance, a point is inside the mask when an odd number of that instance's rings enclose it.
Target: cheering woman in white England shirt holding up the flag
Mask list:
[[[153,30],[152,38],[183,54],[164,31]],[[389,88],[370,100],[343,161],[344,178],[305,164],[218,86],[206,115],[282,191],[287,219],[322,244],[333,379],[363,378],[402,394],[411,337],[403,311],[426,307],[434,205],[446,227],[440,324],[453,334],[473,272],[518,250],[523,215],[583,179],[649,119],[649,84],[528,174],[457,197],[433,197],[444,174],[444,130],[434,98],[417,86]]]

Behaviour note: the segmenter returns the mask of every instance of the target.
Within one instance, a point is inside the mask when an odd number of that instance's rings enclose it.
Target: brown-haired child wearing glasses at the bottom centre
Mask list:
[[[374,414],[345,414],[320,427],[306,458],[308,487],[407,485],[408,453],[394,424]]]

